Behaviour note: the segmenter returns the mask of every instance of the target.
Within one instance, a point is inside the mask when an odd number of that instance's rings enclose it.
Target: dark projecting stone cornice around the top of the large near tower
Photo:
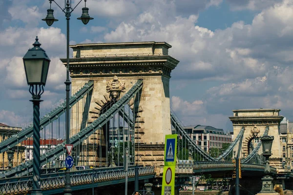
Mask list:
[[[61,59],[66,64],[66,59]],[[70,59],[70,75],[74,77],[105,77],[107,75],[164,75],[170,78],[179,61],[170,56],[104,57]]]

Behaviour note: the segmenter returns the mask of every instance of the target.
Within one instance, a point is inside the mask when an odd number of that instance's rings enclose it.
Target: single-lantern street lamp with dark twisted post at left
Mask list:
[[[41,43],[36,38],[34,47],[29,49],[23,57],[23,64],[29,92],[32,95],[34,109],[33,127],[33,190],[32,195],[42,195],[40,188],[40,102],[46,84],[50,59],[40,47]]]

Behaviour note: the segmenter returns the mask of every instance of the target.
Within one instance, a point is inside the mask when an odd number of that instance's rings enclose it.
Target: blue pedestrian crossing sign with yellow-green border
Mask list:
[[[177,134],[166,135],[165,138],[165,166],[176,165]]]

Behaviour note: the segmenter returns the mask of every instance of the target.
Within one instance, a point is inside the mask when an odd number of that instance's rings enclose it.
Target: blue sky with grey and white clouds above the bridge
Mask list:
[[[72,0],[75,5],[79,0]],[[64,5],[64,0],[56,0]],[[233,109],[278,108],[293,120],[292,0],[87,0],[72,13],[70,43],[166,41],[180,60],[171,107],[185,125],[232,130]],[[42,18],[48,0],[0,0],[0,122],[25,126],[32,104],[22,57],[36,36],[51,59],[41,114],[65,97],[66,20]],[[72,55],[72,53],[70,53]]]

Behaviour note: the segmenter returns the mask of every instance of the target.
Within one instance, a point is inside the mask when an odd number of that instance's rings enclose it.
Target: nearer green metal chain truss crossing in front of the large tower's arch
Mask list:
[[[79,143],[87,139],[98,129],[101,129],[103,125],[110,120],[111,116],[114,116],[116,113],[122,112],[124,106],[129,102],[129,99],[134,98],[134,96],[142,89],[143,80],[139,79],[133,87],[122,97],[120,98],[111,108],[109,108],[105,114],[102,114],[90,125],[85,127],[79,133],[75,134],[70,138],[70,144],[77,146]],[[58,144],[55,148],[49,150],[46,154],[41,156],[41,166],[46,164],[49,161],[57,159],[58,156],[61,156],[64,153],[65,142]],[[5,172],[5,177],[11,176],[25,176],[33,170],[32,160],[21,163],[20,166],[14,167],[11,170]]]

